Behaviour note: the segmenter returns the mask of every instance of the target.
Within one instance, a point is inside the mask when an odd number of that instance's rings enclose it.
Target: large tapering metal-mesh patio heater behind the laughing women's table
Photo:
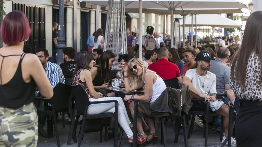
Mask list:
[[[127,53],[127,34],[124,0],[109,0],[104,51],[110,50],[116,56],[112,69],[119,69],[118,57]]]

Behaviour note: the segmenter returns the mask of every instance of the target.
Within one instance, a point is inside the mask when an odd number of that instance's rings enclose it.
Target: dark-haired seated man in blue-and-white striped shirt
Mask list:
[[[44,48],[36,49],[35,50],[36,56],[38,56],[41,64],[43,65],[43,68],[45,69],[46,76],[49,80],[49,82],[52,85],[52,88],[54,88],[58,83],[65,83],[65,77],[63,75],[62,69],[58,64],[51,63],[48,61],[49,59],[49,53],[48,50]],[[44,102],[40,101],[38,107],[44,107]],[[43,134],[43,137],[46,137],[46,133],[43,131],[43,127],[46,124],[46,115],[39,114],[39,124],[38,124],[38,130],[39,135]]]

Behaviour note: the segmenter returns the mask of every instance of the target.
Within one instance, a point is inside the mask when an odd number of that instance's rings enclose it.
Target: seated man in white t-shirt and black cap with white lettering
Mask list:
[[[209,72],[210,58],[208,52],[202,51],[197,54],[196,68],[189,69],[183,77],[183,85],[189,87],[189,92],[193,98],[205,99],[205,102],[209,102],[210,108],[213,112],[224,116],[225,133],[224,138],[228,135],[228,119],[229,119],[229,107],[224,102],[216,100],[216,75]],[[194,102],[191,110],[206,111],[205,102]],[[224,139],[223,138],[223,139]],[[236,146],[236,140],[232,138],[232,146]]]

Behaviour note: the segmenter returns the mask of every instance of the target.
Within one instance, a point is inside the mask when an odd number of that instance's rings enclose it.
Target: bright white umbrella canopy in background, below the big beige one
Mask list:
[[[191,26],[191,16],[185,18],[185,26]],[[195,25],[195,23],[194,23]],[[180,26],[183,26],[183,21],[180,20]],[[197,15],[197,26],[211,26],[220,28],[237,28],[241,24],[229,18],[222,17],[218,14],[199,14]]]

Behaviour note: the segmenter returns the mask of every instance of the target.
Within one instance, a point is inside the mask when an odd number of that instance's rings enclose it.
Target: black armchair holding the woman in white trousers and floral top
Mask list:
[[[71,121],[71,127],[68,135],[67,145],[70,145],[71,139],[73,137],[74,142],[76,141],[76,128],[77,128],[77,120],[80,115],[83,115],[82,120],[82,127],[80,129],[80,136],[78,141],[78,147],[81,145],[81,141],[83,138],[84,133],[84,126],[86,119],[93,119],[93,118],[108,118],[108,117],[114,117],[115,118],[115,126],[114,128],[118,127],[118,102],[116,100],[110,100],[110,101],[99,101],[99,102],[90,102],[87,96],[87,93],[85,89],[80,86],[72,86],[72,93],[73,97],[75,98],[75,108],[74,108],[74,114],[73,114],[73,120]],[[88,106],[91,104],[102,104],[102,103],[115,103],[115,112],[114,113],[101,113],[101,114],[95,114],[90,115],[87,114]],[[114,146],[117,147],[117,129],[114,129]],[[102,135],[100,133],[100,142],[102,141]]]

